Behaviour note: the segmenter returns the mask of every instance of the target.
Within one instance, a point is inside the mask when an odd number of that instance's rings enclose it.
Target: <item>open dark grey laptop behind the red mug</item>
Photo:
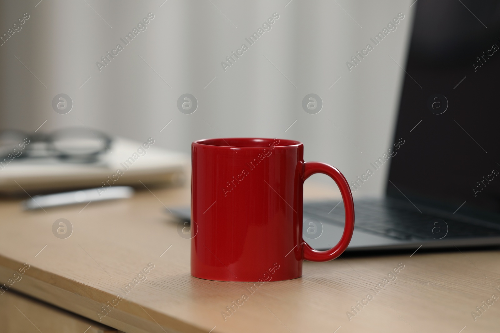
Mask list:
[[[500,245],[500,2],[415,6],[392,153],[366,165],[390,163],[385,196],[356,200],[369,175],[348,179],[346,252]],[[343,203],[308,202],[303,216],[313,248],[340,239]]]

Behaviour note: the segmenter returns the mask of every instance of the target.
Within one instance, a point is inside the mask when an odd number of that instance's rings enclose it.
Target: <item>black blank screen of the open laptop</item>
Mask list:
[[[500,1],[414,5],[386,193],[500,221]]]

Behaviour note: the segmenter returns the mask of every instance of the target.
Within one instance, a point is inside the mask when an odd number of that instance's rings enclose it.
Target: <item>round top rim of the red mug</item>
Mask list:
[[[298,147],[300,145],[303,145],[302,142],[296,141],[296,140],[289,140],[289,139],[278,139],[278,138],[256,138],[256,137],[231,137],[231,138],[209,138],[209,139],[201,139],[201,140],[196,140],[192,142],[192,145],[202,145],[206,147],[217,147],[217,148],[228,148],[228,149],[235,149],[235,148],[256,148],[256,149],[262,149],[262,148],[268,148],[269,144],[274,143],[274,140],[279,140],[279,143],[275,145],[275,147],[281,147],[281,148],[286,148],[286,147]],[[229,142],[232,141],[232,145],[229,145]],[[241,144],[237,144],[234,141],[240,141]],[[255,145],[255,146],[250,146],[250,145],[244,145],[244,142],[254,142],[254,143],[259,143],[261,142],[261,145]]]

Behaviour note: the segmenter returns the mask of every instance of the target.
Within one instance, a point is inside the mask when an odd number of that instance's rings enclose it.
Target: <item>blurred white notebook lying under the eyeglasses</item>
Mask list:
[[[139,149],[141,148],[142,149]],[[29,195],[101,186],[148,186],[182,183],[189,157],[155,145],[113,139],[109,151],[94,163],[56,158],[13,158],[0,168],[0,193]]]

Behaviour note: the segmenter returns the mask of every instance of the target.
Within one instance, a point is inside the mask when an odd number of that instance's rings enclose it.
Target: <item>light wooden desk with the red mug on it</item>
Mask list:
[[[482,314],[476,309],[492,294],[500,297],[499,251],[304,262],[302,278],[266,282],[250,294],[250,283],[189,275],[190,241],[180,236],[182,225],[165,208],[187,204],[189,190],[150,190],[128,200],[31,212],[21,211],[17,200],[2,200],[0,281],[14,281],[17,272],[21,278],[9,289],[128,333],[499,330],[500,300],[489,301],[493,304],[483,306]],[[309,184],[304,192],[306,197],[335,195]],[[66,239],[52,233],[61,218],[73,227]],[[19,275],[24,263],[29,268]],[[404,268],[384,283],[398,265]],[[143,269],[147,274],[140,281]],[[376,294],[379,283],[384,287]],[[11,290],[0,295],[0,304]],[[242,294],[248,300],[229,313],[226,307]]]

